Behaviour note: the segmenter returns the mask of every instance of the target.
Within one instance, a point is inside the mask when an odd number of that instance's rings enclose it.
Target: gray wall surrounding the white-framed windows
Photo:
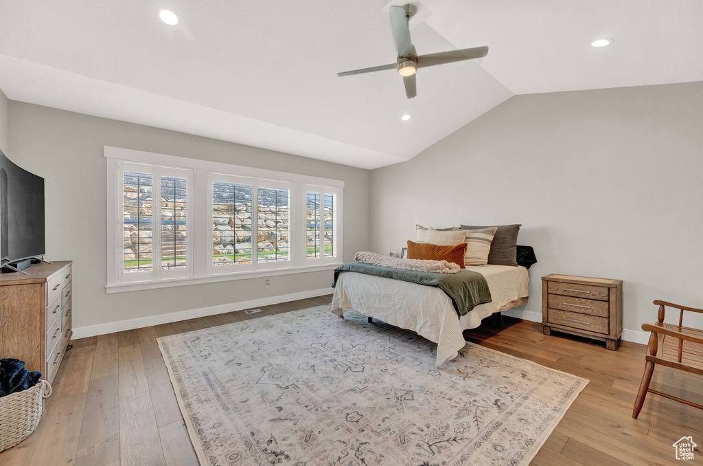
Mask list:
[[[367,250],[369,172],[79,113],[10,102],[12,160],[46,179],[46,251],[73,260],[74,327],[328,288],[332,272],[106,294],[106,163],[103,146],[344,180],[344,259]],[[331,289],[330,289],[331,291]]]

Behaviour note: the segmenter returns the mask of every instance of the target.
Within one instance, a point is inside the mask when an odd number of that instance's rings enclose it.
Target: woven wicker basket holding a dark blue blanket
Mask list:
[[[40,380],[31,389],[0,398],[0,451],[26,439],[41,419],[44,398],[51,395],[51,385]]]

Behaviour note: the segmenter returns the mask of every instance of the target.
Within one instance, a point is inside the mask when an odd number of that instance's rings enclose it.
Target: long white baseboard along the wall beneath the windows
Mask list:
[[[219,306],[210,306],[208,308],[181,310],[176,313],[150,315],[148,317],[120,320],[119,322],[108,322],[106,324],[89,325],[87,327],[76,327],[73,329],[73,339],[76,340],[79,338],[86,338],[88,336],[122,332],[124,330],[141,329],[142,327],[167,324],[169,322],[179,322],[179,320],[195,319],[198,317],[206,317],[208,315],[231,313],[236,310],[271,306],[271,304],[287,303],[288,301],[297,301],[298,299],[305,298],[316,298],[317,296],[325,296],[326,294],[332,293],[333,289],[331,288],[314,289],[311,291],[301,291],[299,293],[252,299],[251,301],[241,301],[240,303],[221,304]]]

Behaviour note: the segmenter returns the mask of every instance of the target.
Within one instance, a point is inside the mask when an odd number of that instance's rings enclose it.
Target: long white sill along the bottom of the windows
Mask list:
[[[276,275],[290,275],[296,273],[318,272],[321,270],[335,270],[342,263],[311,265],[308,267],[285,269],[285,270],[261,270],[258,272],[233,272],[218,275],[209,275],[207,277],[198,278],[176,278],[166,279],[159,282],[131,282],[120,284],[108,284],[105,286],[105,291],[108,293],[123,293],[125,291],[139,291],[143,289],[168,288],[170,286],[195,285],[202,283],[217,283],[228,282],[231,280],[250,279],[258,277],[274,277]],[[331,284],[331,277],[330,277]]]

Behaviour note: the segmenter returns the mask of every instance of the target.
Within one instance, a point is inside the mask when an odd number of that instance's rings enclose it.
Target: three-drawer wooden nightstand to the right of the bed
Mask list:
[[[617,350],[622,334],[622,280],[551,274],[542,277],[544,334],[557,332],[605,341]]]

